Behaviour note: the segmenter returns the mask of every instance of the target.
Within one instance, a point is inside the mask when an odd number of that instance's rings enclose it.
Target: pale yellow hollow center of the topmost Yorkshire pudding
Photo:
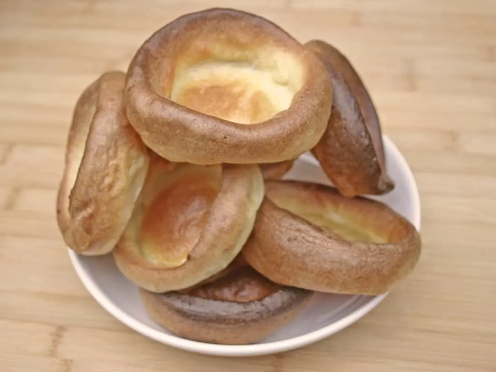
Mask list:
[[[291,82],[278,78],[273,70],[216,61],[179,71],[171,100],[221,119],[254,124],[287,109],[295,94]]]

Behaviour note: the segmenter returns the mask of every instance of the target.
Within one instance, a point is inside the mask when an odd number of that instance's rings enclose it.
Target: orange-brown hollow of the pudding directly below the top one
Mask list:
[[[141,255],[161,266],[183,265],[200,239],[220,184],[220,176],[203,171],[166,185],[143,214]]]

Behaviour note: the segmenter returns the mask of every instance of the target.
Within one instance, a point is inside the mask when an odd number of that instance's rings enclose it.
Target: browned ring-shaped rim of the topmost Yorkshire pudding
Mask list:
[[[278,48],[303,66],[303,86],[290,107],[260,123],[245,125],[206,115],[169,100],[181,46],[197,35],[215,37],[224,48]],[[270,53],[268,53],[270,54]],[[295,159],[321,138],[329,118],[332,86],[317,57],[277,25],[254,14],[208,9],[186,14],[156,31],[138,49],[127,71],[128,117],[149,148],[171,161],[197,164],[264,163]]]

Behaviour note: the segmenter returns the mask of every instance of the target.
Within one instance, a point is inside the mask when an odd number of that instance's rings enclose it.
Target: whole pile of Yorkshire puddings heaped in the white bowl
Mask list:
[[[334,187],[284,180],[311,151]],[[256,342],[314,292],[377,295],[421,251],[379,119],[347,58],[233,9],[186,14],[76,103],[57,218],[81,255],[112,254],[158,324]]]

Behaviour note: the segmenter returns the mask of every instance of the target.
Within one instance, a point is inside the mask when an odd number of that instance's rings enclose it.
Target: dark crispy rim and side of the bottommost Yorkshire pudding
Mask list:
[[[143,305],[159,325],[181,337],[219,344],[249,344],[287,324],[310,302],[313,292],[283,286],[260,300],[239,303],[157,294],[140,289]]]

